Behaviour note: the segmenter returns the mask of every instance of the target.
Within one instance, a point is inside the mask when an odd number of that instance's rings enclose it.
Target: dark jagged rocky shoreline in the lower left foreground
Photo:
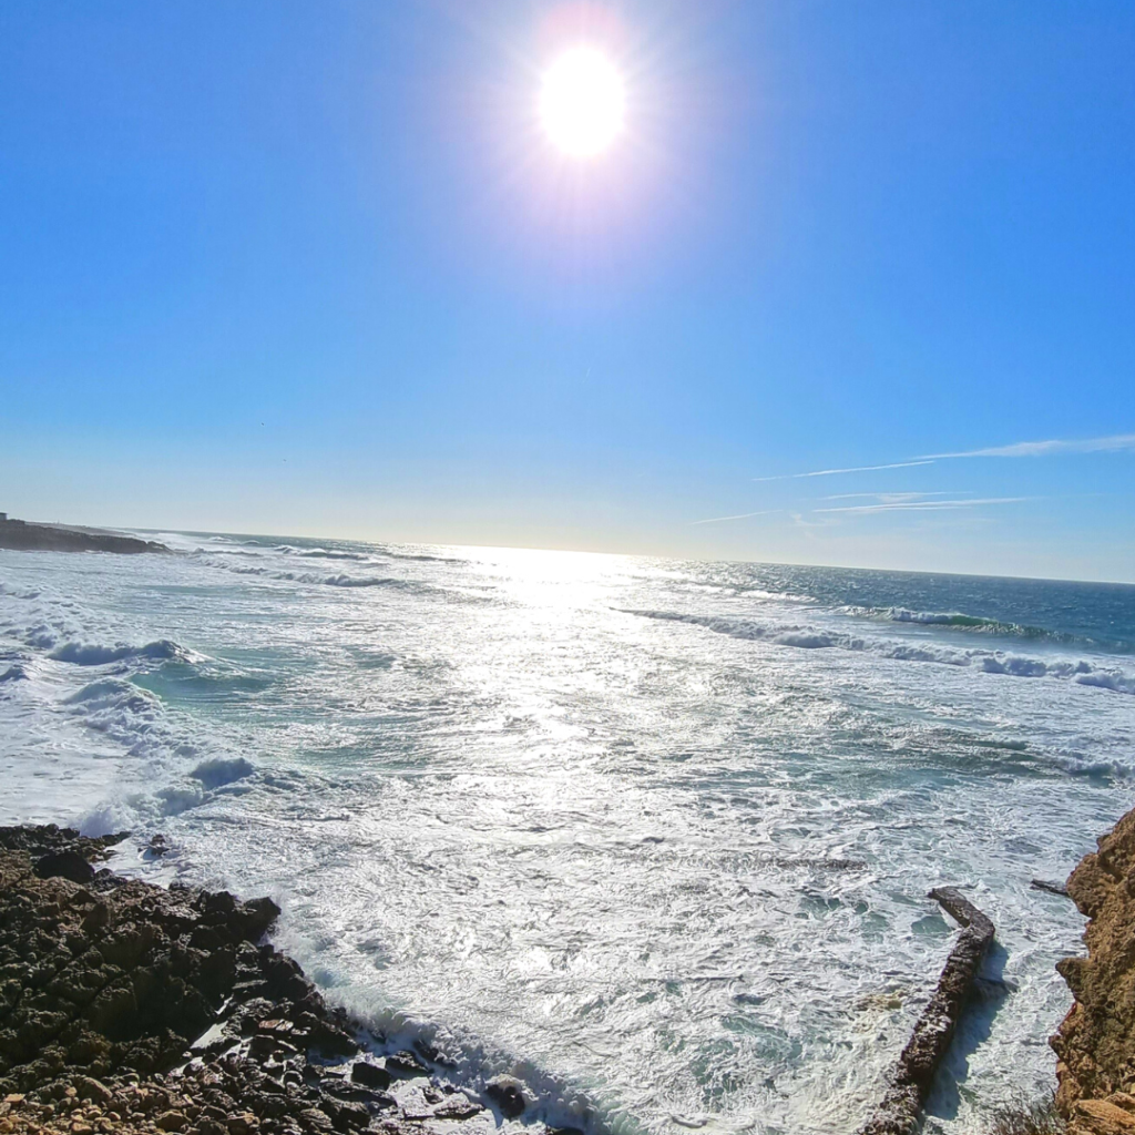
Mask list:
[[[270,899],[96,869],[124,838],[0,829],[0,1135],[581,1135],[386,1052],[263,941]]]

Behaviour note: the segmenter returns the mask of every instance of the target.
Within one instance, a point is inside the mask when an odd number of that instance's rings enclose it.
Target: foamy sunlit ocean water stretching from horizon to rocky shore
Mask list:
[[[1083,919],[1029,882],[1135,802],[1135,587],[158,538],[0,552],[0,822],[271,894],[330,999],[595,1135],[854,1130],[958,885],[927,1129],[1051,1091]]]

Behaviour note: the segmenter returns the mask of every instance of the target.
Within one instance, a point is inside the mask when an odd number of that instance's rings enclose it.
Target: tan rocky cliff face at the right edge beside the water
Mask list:
[[[1074,1135],[1135,1135],[1135,810],[1068,880],[1086,958],[1057,968],[1076,998],[1052,1037],[1057,1110]]]

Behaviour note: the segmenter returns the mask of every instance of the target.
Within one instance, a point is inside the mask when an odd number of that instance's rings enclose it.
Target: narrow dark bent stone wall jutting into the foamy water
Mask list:
[[[938,989],[918,1018],[891,1075],[891,1086],[859,1135],[913,1135],[934,1074],[942,1062],[977,968],[993,941],[993,923],[952,886],[930,892],[962,931],[947,958]]]

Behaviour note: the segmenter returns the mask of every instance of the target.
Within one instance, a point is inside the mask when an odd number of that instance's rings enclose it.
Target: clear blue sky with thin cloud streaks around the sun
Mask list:
[[[1135,580],[1135,5],[8,0],[5,507]]]

